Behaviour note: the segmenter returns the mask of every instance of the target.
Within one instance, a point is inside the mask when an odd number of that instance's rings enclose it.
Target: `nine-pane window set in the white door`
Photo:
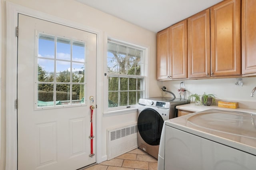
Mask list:
[[[36,108],[83,105],[86,43],[38,33]]]

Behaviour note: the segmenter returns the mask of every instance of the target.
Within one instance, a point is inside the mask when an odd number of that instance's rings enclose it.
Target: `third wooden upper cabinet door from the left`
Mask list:
[[[210,76],[210,10],[188,18],[188,78]]]

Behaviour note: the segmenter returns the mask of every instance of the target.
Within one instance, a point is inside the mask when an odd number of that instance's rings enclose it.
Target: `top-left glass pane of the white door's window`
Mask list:
[[[39,34],[38,57],[54,58],[54,36]]]

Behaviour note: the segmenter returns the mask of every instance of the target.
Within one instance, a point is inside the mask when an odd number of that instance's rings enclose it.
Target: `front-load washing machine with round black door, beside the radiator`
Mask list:
[[[176,106],[187,103],[187,99],[168,97],[139,99],[138,147],[157,159],[164,121],[177,117]]]

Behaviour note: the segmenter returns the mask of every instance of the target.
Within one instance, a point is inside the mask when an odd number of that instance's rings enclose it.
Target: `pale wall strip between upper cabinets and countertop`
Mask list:
[[[236,78],[185,80],[185,86],[188,90],[186,92],[186,98],[194,93],[204,94],[204,92],[206,92],[215,94],[217,99],[239,101],[244,108],[256,109],[256,97],[250,97],[252,89],[256,86],[256,77],[243,77],[242,81],[244,83],[243,86],[236,86]],[[169,91],[172,91],[176,97],[179,97],[178,89],[180,88],[180,81],[165,81],[163,84]],[[162,94],[165,97],[170,97],[169,94]],[[242,105],[242,103],[245,104]]]

